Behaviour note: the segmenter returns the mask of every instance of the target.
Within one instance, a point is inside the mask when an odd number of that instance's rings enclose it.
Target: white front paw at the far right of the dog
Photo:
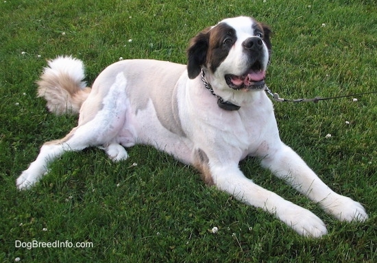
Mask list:
[[[368,218],[367,212],[365,212],[365,208],[361,203],[343,195],[332,195],[321,201],[321,206],[326,212],[334,215],[340,221],[363,222]]]

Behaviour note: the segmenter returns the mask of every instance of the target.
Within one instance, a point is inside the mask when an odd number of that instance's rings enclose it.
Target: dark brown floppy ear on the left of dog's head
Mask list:
[[[191,39],[187,49],[187,72],[190,79],[195,79],[199,75],[202,65],[206,63],[210,27]]]

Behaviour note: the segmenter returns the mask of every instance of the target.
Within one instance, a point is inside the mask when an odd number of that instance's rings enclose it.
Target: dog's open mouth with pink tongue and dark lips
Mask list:
[[[245,74],[241,76],[227,74],[225,79],[228,86],[234,90],[258,90],[265,87],[265,76],[266,71],[261,70],[260,66],[254,64]]]

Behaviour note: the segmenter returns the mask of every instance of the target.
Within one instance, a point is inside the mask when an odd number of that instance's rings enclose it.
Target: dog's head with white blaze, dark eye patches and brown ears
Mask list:
[[[227,18],[191,40],[187,70],[194,79],[203,68],[217,90],[260,90],[270,51],[269,27],[251,17]]]

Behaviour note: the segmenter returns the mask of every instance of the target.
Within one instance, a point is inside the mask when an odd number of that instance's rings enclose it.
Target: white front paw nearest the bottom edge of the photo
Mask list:
[[[280,211],[278,218],[302,236],[320,238],[327,234],[325,223],[309,210],[291,203]]]

